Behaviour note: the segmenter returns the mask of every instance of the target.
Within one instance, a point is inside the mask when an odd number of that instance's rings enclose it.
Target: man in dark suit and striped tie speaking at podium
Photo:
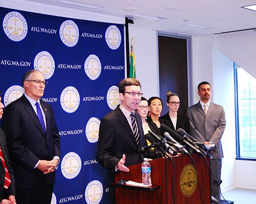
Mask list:
[[[134,111],[138,108],[141,99],[140,82],[134,78],[127,78],[119,84],[121,105],[105,115],[99,127],[97,161],[110,171],[110,197],[115,203],[115,182],[117,170],[129,172],[127,166],[143,162],[143,154],[138,148],[145,145],[144,133],[140,114]],[[131,113],[135,114],[139,137],[133,131]]]

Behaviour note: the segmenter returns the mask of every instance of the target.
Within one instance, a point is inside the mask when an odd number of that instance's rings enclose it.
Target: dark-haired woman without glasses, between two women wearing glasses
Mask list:
[[[161,124],[165,124],[170,127],[170,123],[167,120],[159,118],[163,109],[162,99],[156,96],[148,99],[148,118],[146,119],[150,129],[153,133],[164,137],[163,130],[160,128]]]

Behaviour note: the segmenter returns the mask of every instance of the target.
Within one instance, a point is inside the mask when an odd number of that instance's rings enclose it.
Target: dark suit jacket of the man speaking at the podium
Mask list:
[[[140,114],[135,111],[136,122],[140,133],[139,147],[145,145],[144,133]],[[119,107],[106,114],[99,127],[99,139],[97,150],[97,161],[105,169],[110,170],[110,197],[115,198],[115,189],[112,184],[115,182],[115,167],[122,155],[125,154],[125,166],[131,166],[143,162],[143,154],[138,153],[138,145],[133,131],[126,117]],[[145,154],[148,152],[146,151]]]

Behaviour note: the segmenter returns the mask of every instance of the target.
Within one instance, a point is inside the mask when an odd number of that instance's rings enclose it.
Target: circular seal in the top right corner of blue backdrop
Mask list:
[[[116,25],[110,25],[110,27],[106,29],[105,40],[106,44],[108,44],[111,49],[117,49],[120,46],[122,38],[120,30]]]

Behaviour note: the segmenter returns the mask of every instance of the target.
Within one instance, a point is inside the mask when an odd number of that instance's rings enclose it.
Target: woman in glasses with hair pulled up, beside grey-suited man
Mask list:
[[[190,134],[189,118],[185,114],[178,113],[180,107],[180,98],[176,93],[168,91],[166,93],[166,105],[169,107],[168,113],[162,116],[162,119],[168,120],[170,128],[177,131],[179,128]]]

